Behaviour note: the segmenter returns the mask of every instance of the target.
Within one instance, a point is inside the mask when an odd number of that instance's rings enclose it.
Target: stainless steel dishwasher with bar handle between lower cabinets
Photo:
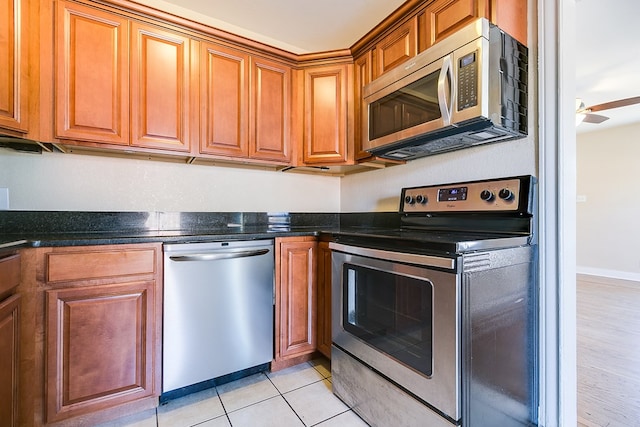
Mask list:
[[[161,402],[268,369],[273,240],[164,245]]]

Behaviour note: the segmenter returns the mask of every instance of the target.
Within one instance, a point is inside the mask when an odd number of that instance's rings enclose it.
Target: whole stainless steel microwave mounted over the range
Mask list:
[[[389,159],[527,135],[528,51],[480,18],[363,88],[363,148]]]

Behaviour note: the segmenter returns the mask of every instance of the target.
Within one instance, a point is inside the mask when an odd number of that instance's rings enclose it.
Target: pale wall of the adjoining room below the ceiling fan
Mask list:
[[[640,281],[639,133],[636,123],[577,135],[580,273]]]

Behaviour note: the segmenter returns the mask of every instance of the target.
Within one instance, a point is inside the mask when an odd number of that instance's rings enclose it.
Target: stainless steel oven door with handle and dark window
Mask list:
[[[456,260],[330,247],[334,345],[459,420]]]

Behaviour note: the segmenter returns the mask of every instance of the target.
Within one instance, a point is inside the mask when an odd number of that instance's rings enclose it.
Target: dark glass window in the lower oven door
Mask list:
[[[343,273],[344,329],[431,376],[433,284],[353,264]]]

